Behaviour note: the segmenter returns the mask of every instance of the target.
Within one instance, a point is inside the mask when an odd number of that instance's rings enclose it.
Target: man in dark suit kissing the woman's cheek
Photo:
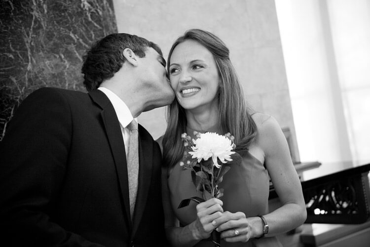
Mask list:
[[[87,52],[82,73],[88,94],[38,89],[9,124],[0,144],[0,243],[163,246],[160,149],[141,125],[130,127],[174,99],[162,52],[112,34]]]

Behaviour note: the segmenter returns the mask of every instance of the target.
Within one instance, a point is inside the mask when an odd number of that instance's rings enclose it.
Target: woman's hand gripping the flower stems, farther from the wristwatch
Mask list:
[[[193,236],[201,240],[211,236],[212,231],[218,226],[214,222],[222,216],[222,201],[212,198],[196,206],[197,218],[191,224]]]

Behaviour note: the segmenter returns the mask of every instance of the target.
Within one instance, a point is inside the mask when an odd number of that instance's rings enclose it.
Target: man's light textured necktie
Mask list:
[[[131,219],[134,215],[136,194],[138,192],[139,178],[139,140],[138,140],[138,123],[135,120],[127,125],[131,131],[130,144],[128,148],[127,172],[128,172],[128,189],[130,193],[130,213]]]

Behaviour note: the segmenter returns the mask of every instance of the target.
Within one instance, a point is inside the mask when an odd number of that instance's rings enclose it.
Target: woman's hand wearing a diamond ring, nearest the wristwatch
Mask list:
[[[215,225],[219,225],[216,231],[221,232],[221,238],[226,242],[247,242],[254,237],[250,219],[243,212],[225,211],[215,220]]]

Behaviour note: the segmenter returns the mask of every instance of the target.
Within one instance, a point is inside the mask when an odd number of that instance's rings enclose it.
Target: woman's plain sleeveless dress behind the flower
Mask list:
[[[193,137],[189,128],[187,134]],[[201,131],[198,131],[201,132]],[[168,171],[168,187],[172,209],[181,226],[188,225],[196,219],[196,203],[178,209],[180,202],[190,197],[202,198],[191,179],[191,170],[176,164]],[[230,165],[223,176],[219,188],[223,188],[223,210],[244,212],[247,217],[268,213],[269,176],[261,162],[249,152],[242,157],[240,165]],[[211,241],[200,241],[196,247],[214,247]],[[227,243],[221,240],[221,247],[279,247],[282,246],[276,237],[251,239],[247,243]]]

